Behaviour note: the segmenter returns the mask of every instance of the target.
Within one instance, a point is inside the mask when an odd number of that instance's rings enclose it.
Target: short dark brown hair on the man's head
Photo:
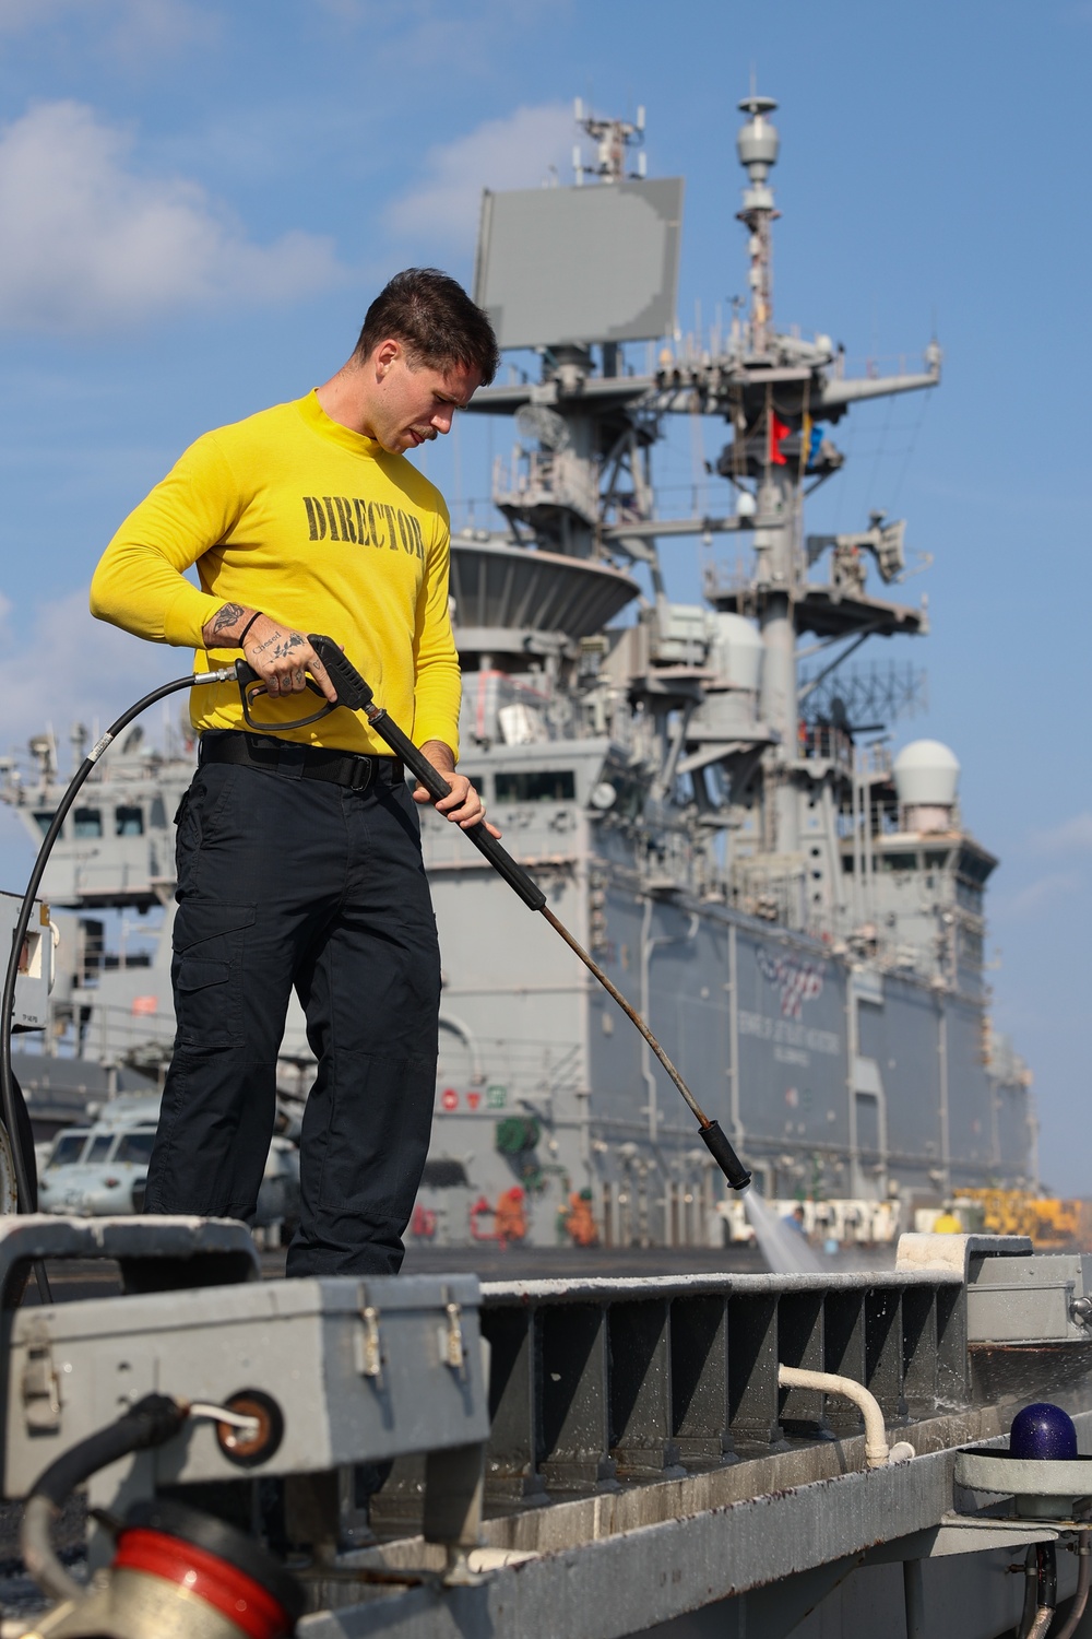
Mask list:
[[[370,357],[388,336],[404,346],[411,364],[431,370],[462,364],[480,372],[483,387],[501,362],[490,320],[458,280],[439,267],[406,267],[395,274],[365,313],[354,356]]]

